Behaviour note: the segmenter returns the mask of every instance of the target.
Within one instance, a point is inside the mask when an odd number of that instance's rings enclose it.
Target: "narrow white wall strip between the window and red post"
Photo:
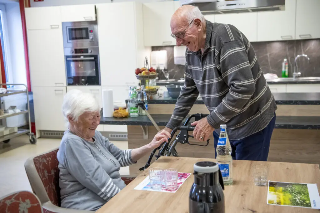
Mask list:
[[[7,30],[11,55],[11,69],[13,83],[27,85],[26,62],[19,3],[5,4],[7,14]]]

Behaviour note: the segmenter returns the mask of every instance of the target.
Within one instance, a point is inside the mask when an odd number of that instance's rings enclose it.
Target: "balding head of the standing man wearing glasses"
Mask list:
[[[171,17],[170,27],[177,46],[185,45],[190,51],[204,48],[206,21],[198,7],[179,7]]]

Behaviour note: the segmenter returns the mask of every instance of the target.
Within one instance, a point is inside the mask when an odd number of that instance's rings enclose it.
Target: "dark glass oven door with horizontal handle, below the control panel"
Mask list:
[[[99,55],[66,56],[68,85],[100,85]]]

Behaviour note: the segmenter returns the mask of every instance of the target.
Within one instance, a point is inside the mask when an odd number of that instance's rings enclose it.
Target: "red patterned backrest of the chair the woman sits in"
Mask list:
[[[52,202],[60,206],[59,169],[55,149],[36,157],[30,157],[25,163],[25,169],[33,192],[42,204]]]

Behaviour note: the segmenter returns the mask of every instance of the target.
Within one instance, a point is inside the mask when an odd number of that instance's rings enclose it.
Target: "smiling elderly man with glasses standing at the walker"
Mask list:
[[[185,45],[185,82],[165,130],[188,115],[200,94],[210,114],[192,125],[194,137],[214,136],[227,125],[233,159],[267,161],[277,109],[257,56],[240,30],[212,23],[197,7],[184,5],[171,18],[177,46]]]

